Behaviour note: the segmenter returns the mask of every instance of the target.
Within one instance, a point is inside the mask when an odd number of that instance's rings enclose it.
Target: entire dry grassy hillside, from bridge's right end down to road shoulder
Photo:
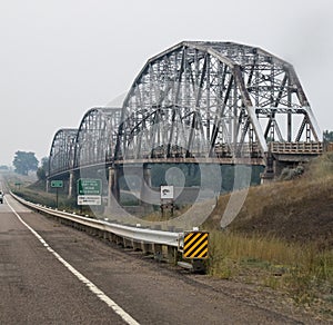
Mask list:
[[[210,275],[281,290],[333,319],[333,152],[314,159],[297,179],[250,188],[222,230],[229,199],[221,196],[203,225]]]

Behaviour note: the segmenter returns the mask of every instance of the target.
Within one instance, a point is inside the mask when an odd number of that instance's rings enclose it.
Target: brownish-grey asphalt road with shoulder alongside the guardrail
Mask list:
[[[274,296],[253,295],[102,243],[10,195],[0,205],[0,324],[303,323]]]

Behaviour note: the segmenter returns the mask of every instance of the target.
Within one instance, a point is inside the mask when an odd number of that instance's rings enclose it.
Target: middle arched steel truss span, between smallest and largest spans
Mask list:
[[[73,168],[113,160],[121,109],[92,108],[81,120],[74,146]]]

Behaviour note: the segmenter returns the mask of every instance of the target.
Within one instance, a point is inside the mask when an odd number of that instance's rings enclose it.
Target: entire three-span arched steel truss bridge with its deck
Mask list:
[[[321,151],[321,131],[289,62],[258,47],[183,41],[148,60],[122,107],[92,108],[79,129],[54,135],[49,179],[128,162],[272,168]]]

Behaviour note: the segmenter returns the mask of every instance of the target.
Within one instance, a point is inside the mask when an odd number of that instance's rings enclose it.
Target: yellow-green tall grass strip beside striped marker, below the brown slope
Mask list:
[[[299,304],[332,298],[333,250],[228,232],[210,234],[209,274],[287,293]]]

